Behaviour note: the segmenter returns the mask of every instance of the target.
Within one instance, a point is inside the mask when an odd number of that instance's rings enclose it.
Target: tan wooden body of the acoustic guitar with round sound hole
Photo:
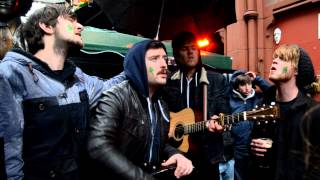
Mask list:
[[[177,113],[170,112],[169,138],[174,141],[173,146],[182,152],[189,150],[189,135],[184,133],[184,126],[195,123],[195,116],[191,108]]]

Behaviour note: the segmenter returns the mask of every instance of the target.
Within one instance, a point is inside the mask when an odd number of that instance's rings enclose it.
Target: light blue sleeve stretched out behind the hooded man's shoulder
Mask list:
[[[96,76],[89,76],[79,68],[77,68],[76,74],[79,76],[80,80],[85,83],[85,89],[89,96],[90,108],[93,108],[96,105],[103,91],[110,89],[113,85],[124,81],[126,78],[124,72],[121,72],[115,77],[104,80]]]

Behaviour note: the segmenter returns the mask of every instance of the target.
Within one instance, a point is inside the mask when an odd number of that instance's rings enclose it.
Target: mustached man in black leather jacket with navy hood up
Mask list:
[[[166,61],[161,42],[137,43],[125,57],[128,80],[105,91],[98,102],[88,149],[105,175],[153,179],[147,170],[150,165],[176,165],[177,178],[192,172],[191,161],[167,143],[169,114],[161,97]]]

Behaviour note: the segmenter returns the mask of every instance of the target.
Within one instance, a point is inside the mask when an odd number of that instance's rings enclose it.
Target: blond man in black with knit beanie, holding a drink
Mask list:
[[[281,45],[275,50],[273,58],[269,79],[275,86],[266,92],[264,102],[279,105],[280,120],[274,128],[270,128],[272,123],[269,123],[266,128],[254,129],[251,149],[255,156],[260,157],[273,150],[274,159],[269,167],[259,166],[259,161],[256,161],[251,179],[303,179],[305,152],[300,132],[302,117],[316,104],[307,95],[319,93],[319,84],[309,55],[299,46]],[[259,139],[261,136],[272,138],[271,150],[267,150],[266,140]]]

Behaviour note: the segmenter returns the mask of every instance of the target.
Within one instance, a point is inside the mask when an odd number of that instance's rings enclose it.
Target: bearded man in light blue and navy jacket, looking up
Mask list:
[[[83,27],[64,5],[37,10],[20,30],[28,51],[13,49],[0,63],[8,179],[79,179],[90,108],[124,75],[103,81],[66,61],[83,47]]]

